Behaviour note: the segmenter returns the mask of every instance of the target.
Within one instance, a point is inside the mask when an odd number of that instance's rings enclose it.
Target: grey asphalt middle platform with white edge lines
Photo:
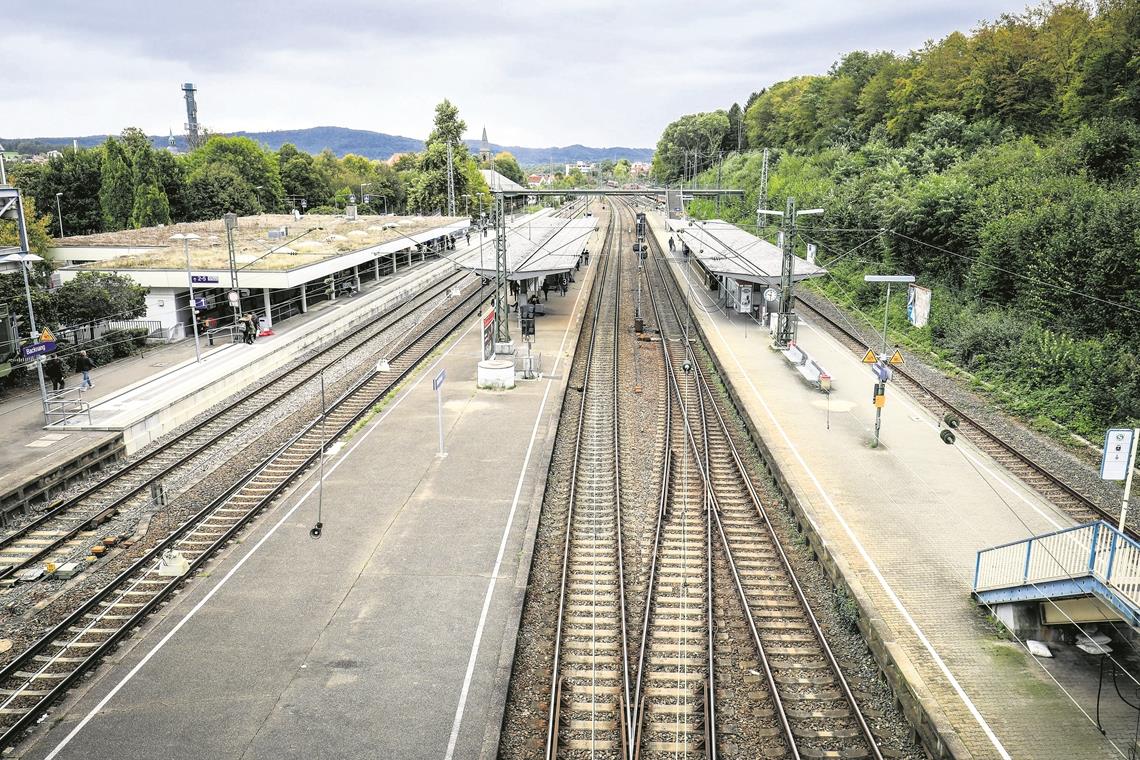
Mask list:
[[[478,390],[473,319],[19,757],[494,758],[593,271],[537,319],[539,378]]]

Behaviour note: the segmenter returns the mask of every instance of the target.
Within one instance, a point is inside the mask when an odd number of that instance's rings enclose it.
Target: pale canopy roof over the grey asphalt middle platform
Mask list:
[[[594,216],[539,216],[506,232],[507,279],[520,280],[567,272],[575,268],[586,242],[597,228]],[[465,265],[495,276],[495,234],[479,239],[479,252]]]

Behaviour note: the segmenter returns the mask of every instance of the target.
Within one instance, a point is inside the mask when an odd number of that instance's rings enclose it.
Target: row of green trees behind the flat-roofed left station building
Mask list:
[[[246,137],[210,134],[185,154],[156,149],[142,130],[128,128],[95,148],[66,148],[46,163],[13,164],[9,181],[33,201],[59,234],[115,231],[222,214],[343,211],[350,196],[361,213],[434,214],[447,211],[447,144],[453,147],[457,207],[478,213],[490,196],[479,169],[494,167],[520,185],[510,153],[480,166],[462,140],[466,124],[448,100],[435,108],[424,150],[391,164],[332,150],[311,155],[291,144],[278,150]],[[58,216],[57,216],[57,194]],[[463,196],[469,196],[463,198]],[[368,203],[364,197],[368,197]]]

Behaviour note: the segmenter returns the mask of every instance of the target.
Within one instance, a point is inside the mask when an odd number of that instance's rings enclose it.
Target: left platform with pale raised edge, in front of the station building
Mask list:
[[[522,215],[512,227],[547,213]],[[130,455],[195,415],[249,387],[318,345],[351,332],[369,314],[456,269],[472,265],[488,245],[459,239],[447,258],[416,261],[378,281],[361,278],[361,292],[315,304],[304,314],[278,322],[275,335],[253,345],[209,345],[195,360],[188,340],[148,349],[91,373],[95,387],[83,394],[90,418],[76,415],[44,427],[39,389],[0,403],[0,515],[51,500],[67,485],[107,461]],[[67,378],[75,389],[78,374]],[[2,518],[2,517],[0,517]]]

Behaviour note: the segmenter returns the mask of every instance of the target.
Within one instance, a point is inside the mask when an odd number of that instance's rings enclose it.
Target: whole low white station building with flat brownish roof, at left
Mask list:
[[[55,240],[48,255],[60,281],[80,272],[124,275],[149,288],[142,318],[153,336],[192,334],[190,287],[199,330],[233,322],[229,240],[233,235],[241,310],[266,324],[304,313],[349,288],[394,273],[425,259],[446,255],[470,229],[458,216],[261,214],[186,222]],[[188,240],[189,261],[181,238]]]

